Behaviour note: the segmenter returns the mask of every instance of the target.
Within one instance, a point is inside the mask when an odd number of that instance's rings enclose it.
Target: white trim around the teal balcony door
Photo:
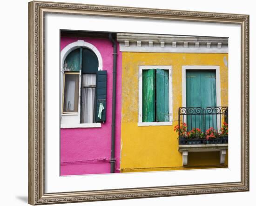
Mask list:
[[[182,66],[182,107],[186,107],[186,70],[216,70],[216,106],[221,105],[221,78],[220,78],[220,66],[212,65],[187,65]],[[185,122],[186,115],[185,115]],[[218,119],[218,124],[220,124]],[[220,128],[220,126],[218,126]]]

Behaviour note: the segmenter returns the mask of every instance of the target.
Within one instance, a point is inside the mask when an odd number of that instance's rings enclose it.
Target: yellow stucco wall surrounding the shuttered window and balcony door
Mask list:
[[[121,172],[219,167],[219,153],[189,153],[182,166],[178,151],[178,107],[182,106],[182,66],[220,66],[221,106],[228,106],[227,53],[122,53]],[[137,126],[139,110],[139,65],[171,65],[173,95],[172,126]],[[226,156],[225,166],[228,164]]]

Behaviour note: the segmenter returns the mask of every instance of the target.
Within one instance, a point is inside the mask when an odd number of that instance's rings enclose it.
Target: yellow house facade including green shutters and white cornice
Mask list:
[[[174,128],[179,107],[228,106],[227,39],[120,33],[117,40],[122,52],[121,172],[226,167],[227,150],[218,146],[184,157]]]

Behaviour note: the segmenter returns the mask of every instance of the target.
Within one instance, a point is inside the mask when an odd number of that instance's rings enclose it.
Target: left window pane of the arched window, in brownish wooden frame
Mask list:
[[[79,74],[65,74],[63,112],[78,112]]]

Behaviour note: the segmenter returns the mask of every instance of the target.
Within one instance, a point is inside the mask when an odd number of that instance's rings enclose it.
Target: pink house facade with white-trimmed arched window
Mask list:
[[[83,34],[79,37],[75,36],[77,35],[66,33],[61,36],[61,175],[110,173],[113,45],[105,36],[100,38],[86,37],[87,35]],[[121,140],[119,49],[116,66],[118,73],[115,108],[115,173],[119,173]],[[105,71],[101,75],[101,77],[107,76],[105,82],[96,83],[98,71]],[[76,75],[76,78],[67,78],[68,75]],[[97,97],[94,100],[95,95],[104,90],[105,86],[102,88],[101,83],[106,84],[106,93],[103,94],[103,99]],[[72,106],[72,102],[76,108]],[[101,103],[104,109],[99,119]]]

